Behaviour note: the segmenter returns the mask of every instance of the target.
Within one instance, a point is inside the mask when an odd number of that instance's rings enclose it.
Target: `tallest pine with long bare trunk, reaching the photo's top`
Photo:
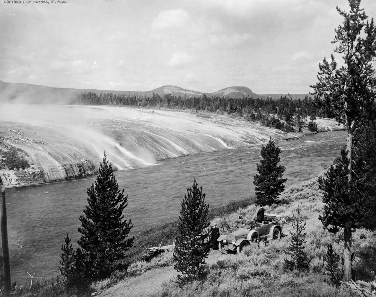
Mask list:
[[[333,43],[335,52],[342,55],[342,66],[331,55],[331,61],[323,59],[318,64],[318,83],[311,86],[320,97],[322,107],[329,116],[345,126],[347,131],[347,178],[352,180],[352,144],[355,129],[374,116],[376,77],[373,62],[376,57],[376,27],[373,18],[367,20],[361,0],[349,0],[350,12],[338,13],[344,18],[343,24],[335,29]],[[321,112],[321,109],[320,109]],[[352,199],[349,199],[352,200]],[[351,230],[354,228],[350,217],[344,227],[344,274],[343,281],[350,281],[351,275]]]

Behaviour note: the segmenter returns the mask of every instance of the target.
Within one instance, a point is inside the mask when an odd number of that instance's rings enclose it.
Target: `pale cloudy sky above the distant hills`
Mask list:
[[[0,3],[0,80],[61,88],[308,93],[347,0]],[[21,1],[22,2],[22,1]],[[376,17],[376,1],[363,0]]]

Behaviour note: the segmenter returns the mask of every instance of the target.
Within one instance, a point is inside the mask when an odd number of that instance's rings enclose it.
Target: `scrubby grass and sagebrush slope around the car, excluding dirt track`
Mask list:
[[[273,205],[267,209],[267,212],[281,214],[282,227],[287,228],[290,226],[292,215],[298,205],[305,219],[317,218],[322,208],[321,197],[322,193],[318,189],[317,182],[310,180],[288,188],[280,197],[288,204]],[[248,205],[239,207],[230,215],[219,212],[221,216],[214,218],[212,223],[217,223],[224,228],[228,222],[235,221],[239,213],[251,218],[255,211],[255,205]],[[251,245],[244,253],[236,257],[229,257],[229,259],[208,265],[208,277],[203,283],[192,283],[179,288],[172,281],[165,282],[153,296],[352,296],[353,292],[349,289],[344,287],[337,289],[326,282],[323,255],[330,243],[341,255],[342,234],[328,233],[318,220],[306,227],[305,247],[309,258],[309,269],[306,272],[285,269],[284,259],[287,258],[285,250],[290,241],[288,236],[269,245]],[[355,279],[374,279],[375,235],[369,230],[357,230],[353,234],[353,252],[355,252],[353,277]],[[172,252],[165,253],[150,262],[135,262],[129,267],[128,272],[132,275],[139,275],[146,270],[169,265],[173,269],[172,263]],[[109,283],[111,283],[110,280],[93,284],[92,289],[102,289]]]

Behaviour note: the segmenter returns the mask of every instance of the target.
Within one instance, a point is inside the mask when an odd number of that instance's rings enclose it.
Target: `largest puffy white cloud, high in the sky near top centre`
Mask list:
[[[190,20],[189,15],[183,9],[172,9],[159,12],[153,20],[152,31],[164,31],[182,28]]]

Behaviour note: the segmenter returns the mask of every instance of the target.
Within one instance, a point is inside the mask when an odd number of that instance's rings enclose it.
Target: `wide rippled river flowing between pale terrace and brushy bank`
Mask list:
[[[346,132],[327,132],[280,142],[280,164],[286,187],[317,177],[326,170],[346,141]],[[128,194],[125,218],[132,233],[179,216],[180,203],[193,178],[211,207],[254,195],[253,176],[261,145],[224,149],[158,162],[152,167],[116,171],[120,189]],[[111,161],[111,160],[110,160]],[[61,244],[70,234],[74,249],[78,217],[87,204],[86,189],[96,176],[6,189],[12,282],[58,274]]]

